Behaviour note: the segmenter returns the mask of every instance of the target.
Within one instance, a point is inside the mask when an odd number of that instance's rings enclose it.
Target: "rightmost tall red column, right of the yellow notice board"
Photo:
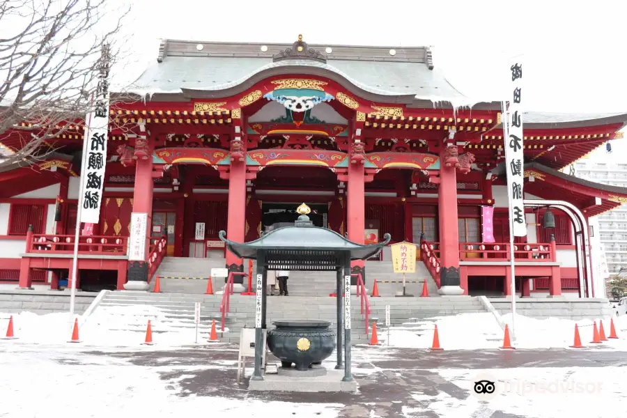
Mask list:
[[[438,217],[440,221],[440,295],[462,295],[460,287],[459,233],[457,229],[457,147],[444,145],[440,153]],[[448,167],[447,167],[448,166]]]

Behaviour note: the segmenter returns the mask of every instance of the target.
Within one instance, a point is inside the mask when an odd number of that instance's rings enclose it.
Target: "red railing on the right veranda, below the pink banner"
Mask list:
[[[556,261],[555,242],[550,244],[516,244],[513,247],[516,260]],[[483,244],[482,242],[461,242],[460,261],[509,261],[509,243]]]

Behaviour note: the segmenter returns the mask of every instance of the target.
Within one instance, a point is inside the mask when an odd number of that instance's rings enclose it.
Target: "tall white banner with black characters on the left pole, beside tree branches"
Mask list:
[[[98,75],[98,86],[93,95],[94,108],[87,114],[81,166],[81,190],[79,204],[82,204],[81,222],[98,224],[102,189],[104,187],[104,166],[107,163],[107,133],[109,132],[109,46],[102,46],[102,63]],[[142,255],[142,261],[144,261]]]

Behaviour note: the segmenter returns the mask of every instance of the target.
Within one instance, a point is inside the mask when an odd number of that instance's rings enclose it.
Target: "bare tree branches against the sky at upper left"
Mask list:
[[[0,167],[38,161],[68,130],[82,134],[102,45],[121,59],[128,8],[113,0],[0,0]],[[0,150],[0,153],[2,150]]]

